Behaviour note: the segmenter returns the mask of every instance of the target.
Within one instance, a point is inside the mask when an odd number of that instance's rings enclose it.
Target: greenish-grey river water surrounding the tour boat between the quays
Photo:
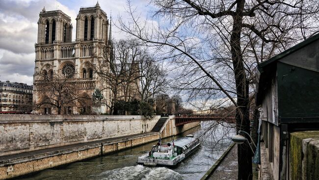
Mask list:
[[[206,133],[204,133],[206,132]],[[235,130],[229,125],[202,122],[178,137],[194,134],[202,147],[176,167],[137,165],[137,157],[150,151],[157,142],[107,154],[57,168],[43,170],[19,180],[199,180],[230,145]],[[162,142],[172,138],[162,139]]]

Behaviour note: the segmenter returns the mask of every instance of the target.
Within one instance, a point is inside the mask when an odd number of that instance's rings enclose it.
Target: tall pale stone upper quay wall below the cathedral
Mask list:
[[[1,115],[0,156],[149,132],[143,116]]]

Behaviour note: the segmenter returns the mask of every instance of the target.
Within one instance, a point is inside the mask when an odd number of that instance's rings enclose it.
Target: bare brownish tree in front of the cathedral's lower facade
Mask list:
[[[52,77],[42,76],[36,85],[37,97],[40,101],[35,103],[36,108],[53,107],[57,114],[68,114],[69,107],[83,107],[90,105],[91,99],[80,94],[77,81],[73,78],[60,77],[55,74]]]

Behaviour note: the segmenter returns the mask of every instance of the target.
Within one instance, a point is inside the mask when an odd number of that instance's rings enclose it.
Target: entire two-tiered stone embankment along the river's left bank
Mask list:
[[[0,180],[141,145],[200,125],[175,127],[173,116],[3,115]]]

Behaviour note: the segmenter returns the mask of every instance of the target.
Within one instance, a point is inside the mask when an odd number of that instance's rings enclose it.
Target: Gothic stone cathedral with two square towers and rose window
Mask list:
[[[74,79],[81,94],[92,98],[96,89],[103,89],[103,82],[92,69],[99,58],[103,58],[101,47],[109,47],[111,26],[106,13],[99,3],[93,7],[80,8],[76,18],[76,40],[72,42],[72,24],[68,15],[61,10],[46,11],[43,8],[38,21],[38,41],[35,44],[35,69],[33,75],[33,102],[47,101],[37,92],[41,90],[41,77],[67,77]],[[109,91],[101,90],[105,101],[95,104],[98,113],[109,112],[105,105]],[[79,114],[78,106],[63,107],[63,114]],[[47,105],[37,108],[34,113],[57,114],[56,108]]]

